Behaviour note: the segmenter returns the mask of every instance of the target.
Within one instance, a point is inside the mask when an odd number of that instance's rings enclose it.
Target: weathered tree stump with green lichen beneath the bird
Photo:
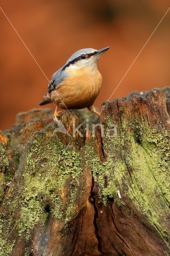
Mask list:
[[[0,256],[169,255],[168,111],[170,88],[115,99],[103,137],[74,136],[74,112],[67,133],[49,109],[18,114],[0,133]]]

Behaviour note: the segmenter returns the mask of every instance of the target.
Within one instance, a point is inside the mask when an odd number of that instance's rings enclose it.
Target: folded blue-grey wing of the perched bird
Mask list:
[[[48,92],[50,93],[51,91],[55,90],[61,82],[68,76],[67,72],[63,70],[63,67],[57,70],[52,78],[51,81],[48,85]]]

